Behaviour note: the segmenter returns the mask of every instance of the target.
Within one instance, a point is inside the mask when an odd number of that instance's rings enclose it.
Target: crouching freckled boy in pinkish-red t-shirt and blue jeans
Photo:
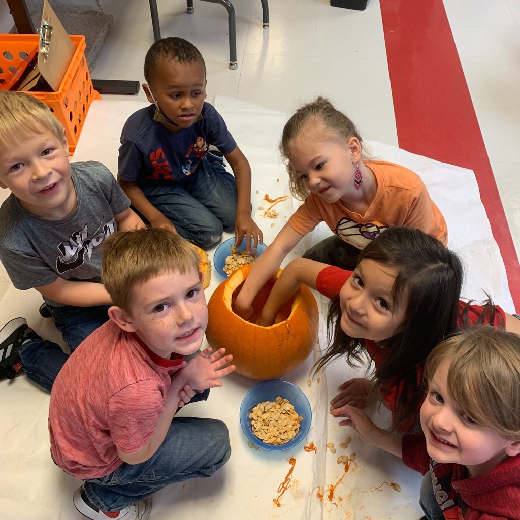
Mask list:
[[[114,233],[105,247],[101,277],[114,305],[56,378],[51,453],[85,480],[74,505],[87,518],[145,520],[152,493],[209,477],[228,460],[223,422],[174,415],[206,399],[235,366],[224,348],[186,362],[207,325],[199,256],[188,241],[145,228]]]

